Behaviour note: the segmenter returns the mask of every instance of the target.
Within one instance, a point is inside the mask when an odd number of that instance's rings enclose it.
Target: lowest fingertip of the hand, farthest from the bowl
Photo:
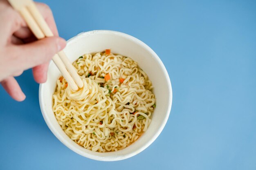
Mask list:
[[[26,96],[22,92],[18,82],[14,77],[8,77],[1,82],[7,93],[18,102],[25,100]]]

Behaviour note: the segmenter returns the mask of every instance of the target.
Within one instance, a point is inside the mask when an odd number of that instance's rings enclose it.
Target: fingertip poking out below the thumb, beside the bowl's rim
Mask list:
[[[44,83],[47,80],[49,62],[32,68],[34,79],[37,83]]]

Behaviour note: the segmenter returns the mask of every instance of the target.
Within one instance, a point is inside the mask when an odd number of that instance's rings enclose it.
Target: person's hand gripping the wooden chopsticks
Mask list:
[[[26,96],[13,76],[32,68],[35,81],[44,83],[49,61],[66,44],[58,37],[51,9],[46,4],[36,5],[55,37],[36,40],[19,13],[7,0],[0,0],[0,82],[17,101],[23,101]]]

